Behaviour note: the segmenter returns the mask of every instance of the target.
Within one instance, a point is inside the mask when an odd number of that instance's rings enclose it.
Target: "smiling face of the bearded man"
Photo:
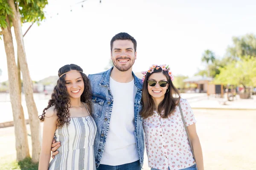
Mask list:
[[[113,65],[119,71],[128,71],[136,59],[137,52],[131,40],[115,40],[111,52]]]

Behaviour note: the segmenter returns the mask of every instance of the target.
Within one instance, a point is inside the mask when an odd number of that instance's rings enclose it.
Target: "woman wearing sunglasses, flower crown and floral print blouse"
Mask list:
[[[141,116],[148,166],[151,170],[204,170],[195,116],[173,85],[169,66],[152,65],[143,74]]]

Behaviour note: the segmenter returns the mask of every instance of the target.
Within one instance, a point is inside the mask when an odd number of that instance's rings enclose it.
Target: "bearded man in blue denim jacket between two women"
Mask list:
[[[142,81],[132,72],[136,48],[134,37],[116,34],[111,40],[114,66],[88,76],[93,94],[92,116],[97,125],[94,141],[97,170],[141,170],[143,166]],[[52,151],[58,145],[59,142],[53,143]]]

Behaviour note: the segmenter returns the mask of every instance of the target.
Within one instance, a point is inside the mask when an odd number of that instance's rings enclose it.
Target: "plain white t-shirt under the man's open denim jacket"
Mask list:
[[[116,82],[110,77],[113,108],[100,164],[122,165],[139,160],[135,142],[134,79]]]

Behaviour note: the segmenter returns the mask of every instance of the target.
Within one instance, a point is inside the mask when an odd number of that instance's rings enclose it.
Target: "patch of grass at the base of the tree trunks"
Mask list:
[[[31,158],[26,158],[23,161],[6,161],[0,164],[0,170],[38,170],[38,163],[33,163]]]

